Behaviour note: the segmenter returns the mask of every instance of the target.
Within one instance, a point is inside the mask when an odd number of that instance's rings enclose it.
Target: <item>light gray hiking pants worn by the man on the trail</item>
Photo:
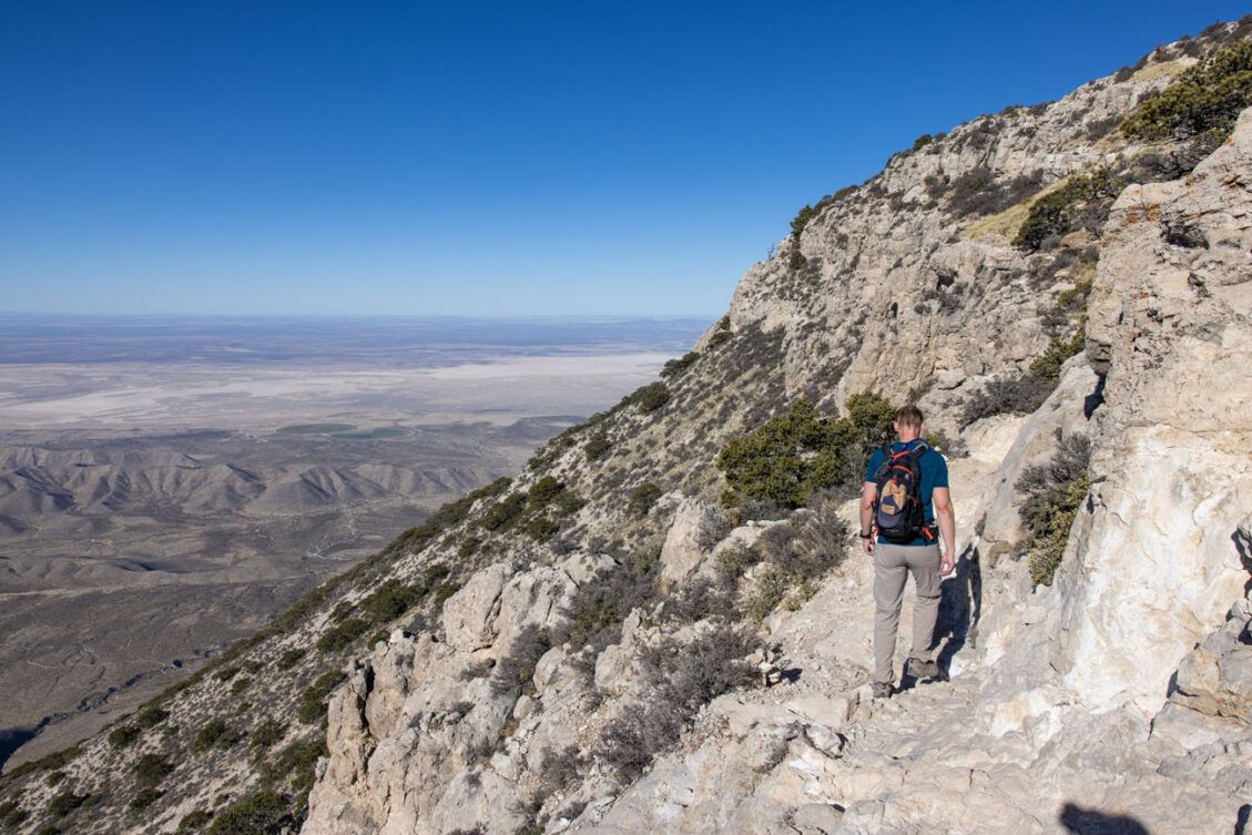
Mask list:
[[[913,575],[918,601],[913,606],[913,651],[909,657],[930,661],[935,618],[939,616],[939,545],[874,546],[874,681],[894,684],[891,658],[900,627],[904,582]]]

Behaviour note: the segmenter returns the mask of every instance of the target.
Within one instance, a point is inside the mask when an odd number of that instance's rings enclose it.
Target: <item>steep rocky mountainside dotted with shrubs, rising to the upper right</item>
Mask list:
[[[20,832],[1232,831],[1252,114],[1216,151],[1117,126],[1249,34],[919,140],[803,212],[664,383],[9,775],[0,811]],[[841,522],[889,414],[866,389],[947,434],[969,543],[952,681],[878,704]]]

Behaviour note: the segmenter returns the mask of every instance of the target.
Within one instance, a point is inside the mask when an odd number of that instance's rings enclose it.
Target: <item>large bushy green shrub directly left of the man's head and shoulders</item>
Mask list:
[[[859,488],[870,453],[891,437],[894,417],[888,401],[868,392],[849,397],[848,416],[839,419],[799,398],[722,448],[717,468],[735,491],[727,498],[800,507],[818,489]]]

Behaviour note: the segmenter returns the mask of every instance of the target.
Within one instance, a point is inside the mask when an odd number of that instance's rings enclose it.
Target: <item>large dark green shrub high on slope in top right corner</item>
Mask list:
[[[1252,41],[1239,41],[1202,58],[1139,100],[1122,123],[1131,139],[1199,139],[1216,148],[1252,105]]]

